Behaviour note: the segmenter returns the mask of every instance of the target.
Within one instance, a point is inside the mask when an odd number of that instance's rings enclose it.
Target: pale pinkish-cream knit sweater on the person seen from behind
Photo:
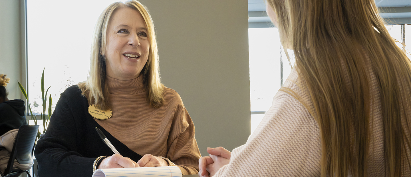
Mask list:
[[[372,136],[367,174],[385,177],[380,91],[371,67],[368,77]],[[254,133],[233,149],[230,163],[214,177],[319,177],[321,136],[314,110],[307,83],[294,68]],[[402,176],[411,176],[408,168]]]

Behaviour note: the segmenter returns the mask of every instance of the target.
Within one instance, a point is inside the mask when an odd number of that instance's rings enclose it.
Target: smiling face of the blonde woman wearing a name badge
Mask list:
[[[150,48],[147,32],[138,11],[129,7],[114,11],[107,27],[107,76],[119,80],[140,76]]]

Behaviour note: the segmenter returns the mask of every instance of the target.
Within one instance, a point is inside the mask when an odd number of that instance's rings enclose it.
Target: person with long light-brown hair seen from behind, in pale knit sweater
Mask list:
[[[247,143],[200,176],[411,176],[411,63],[374,0],[267,0],[295,68]]]

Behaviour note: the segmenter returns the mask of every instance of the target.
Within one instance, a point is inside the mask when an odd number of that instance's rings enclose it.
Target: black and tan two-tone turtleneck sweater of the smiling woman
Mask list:
[[[107,77],[112,116],[98,120],[88,113],[87,99],[77,85],[61,94],[35,156],[41,177],[90,177],[98,156],[112,155],[95,131],[98,127],[122,156],[138,161],[145,154],[161,156],[182,174],[197,174],[201,157],[194,124],[177,92],[164,87],[163,105],[146,101],[143,78]]]

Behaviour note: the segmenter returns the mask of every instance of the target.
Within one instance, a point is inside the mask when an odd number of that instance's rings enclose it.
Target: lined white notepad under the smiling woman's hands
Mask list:
[[[92,177],[181,177],[177,166],[97,169]]]

